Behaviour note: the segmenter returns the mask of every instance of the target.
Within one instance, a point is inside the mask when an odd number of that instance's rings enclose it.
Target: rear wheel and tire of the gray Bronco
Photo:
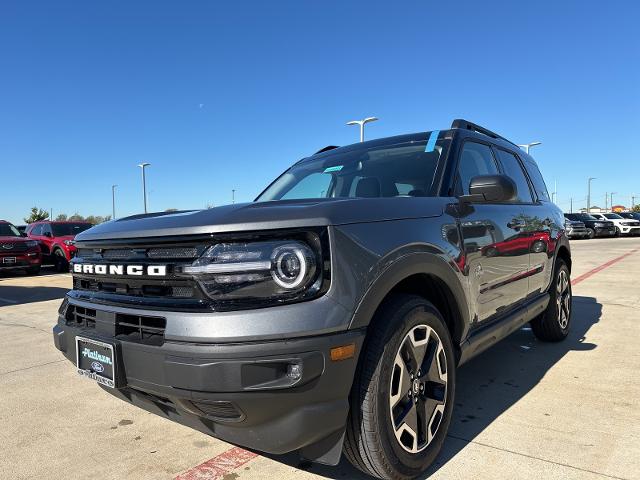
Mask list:
[[[560,287],[560,283],[563,283],[562,278],[567,281],[566,290],[564,285]],[[569,334],[573,313],[571,274],[567,264],[560,258],[556,260],[549,293],[551,295],[549,305],[542,315],[531,321],[531,330],[542,341],[560,342]]]

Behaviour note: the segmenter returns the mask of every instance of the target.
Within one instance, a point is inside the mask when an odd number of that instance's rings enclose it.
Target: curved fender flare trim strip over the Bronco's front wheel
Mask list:
[[[451,262],[453,262],[451,260]],[[373,315],[389,294],[402,280],[416,274],[431,275],[443,282],[453,294],[460,314],[452,335],[458,342],[466,338],[470,325],[467,293],[462,284],[462,273],[455,265],[449,264],[441,256],[429,252],[407,253],[394,260],[371,284],[356,307],[349,328],[366,328]]]

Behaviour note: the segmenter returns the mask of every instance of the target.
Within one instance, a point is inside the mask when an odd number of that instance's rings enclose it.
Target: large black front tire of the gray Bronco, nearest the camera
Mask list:
[[[418,340],[415,332],[420,329],[423,329],[427,338],[422,365],[430,366],[429,373],[416,376],[409,383],[409,393],[405,394],[402,387],[409,377],[404,377],[404,372],[409,371],[408,363],[419,355],[412,354],[406,357],[407,360],[402,360],[406,368],[400,373],[396,359],[401,358],[398,357],[399,349],[407,344],[408,339],[412,343]],[[437,335],[433,335],[433,332]],[[413,349],[413,346],[410,347]],[[434,372],[439,379],[431,382]],[[430,302],[416,295],[397,294],[385,300],[369,328],[351,391],[351,409],[344,444],[347,459],[362,472],[385,480],[407,480],[424,472],[440,452],[449,428],[455,397],[455,373],[453,345],[440,312]],[[444,384],[438,383],[442,381],[443,374]],[[421,383],[423,380],[424,384]],[[394,395],[398,398],[395,407],[391,405],[392,389],[398,392]],[[415,407],[410,392],[417,392],[413,396]],[[394,427],[394,408],[402,412],[405,409],[414,411],[415,408],[418,433],[413,435],[413,443],[417,446],[419,438],[423,439],[422,449],[417,453],[410,453],[402,446],[400,438],[407,432],[396,432],[409,425],[409,416],[403,418],[407,421],[401,423],[401,428]],[[427,420],[421,422],[420,417]],[[425,435],[432,438],[425,441]]]

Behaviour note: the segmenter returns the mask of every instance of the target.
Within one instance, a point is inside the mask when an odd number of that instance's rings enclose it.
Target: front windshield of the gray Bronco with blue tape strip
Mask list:
[[[438,161],[448,145],[449,140],[442,139],[354,146],[311,157],[287,170],[256,201],[429,196]]]

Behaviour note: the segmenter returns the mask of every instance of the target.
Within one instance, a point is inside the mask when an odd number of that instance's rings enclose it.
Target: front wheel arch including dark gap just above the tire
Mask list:
[[[461,276],[455,267],[438,255],[424,252],[405,255],[394,261],[367,290],[356,308],[350,328],[368,327],[390,295],[419,295],[440,311],[459,353],[470,317]]]

